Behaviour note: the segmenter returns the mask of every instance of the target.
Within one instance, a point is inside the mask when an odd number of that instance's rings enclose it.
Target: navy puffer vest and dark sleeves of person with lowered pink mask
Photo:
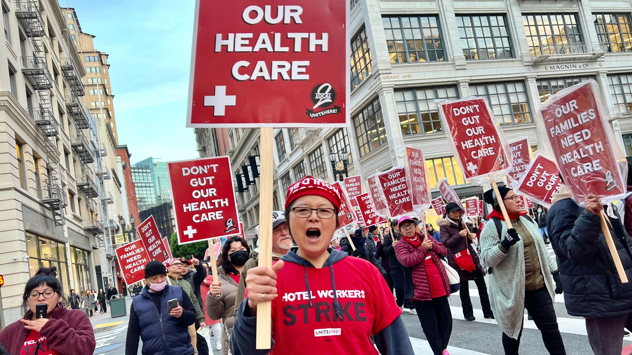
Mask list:
[[[178,305],[183,308],[183,314],[179,318],[171,317],[167,311],[167,301],[176,298]],[[130,332],[135,334],[135,329],[140,330],[140,339],[143,340],[143,354],[152,355],[191,355],[193,346],[188,326],[195,323],[195,310],[193,303],[196,300],[190,298],[177,286],[169,286],[162,291],[161,313],[154,304],[154,300],[149,295],[149,289],[145,287],[140,296],[131,301],[130,325],[128,326],[128,338]],[[137,353],[131,346],[130,339],[127,339],[126,353]]]

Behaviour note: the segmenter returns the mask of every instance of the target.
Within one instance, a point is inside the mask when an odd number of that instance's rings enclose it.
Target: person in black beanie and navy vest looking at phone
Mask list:
[[[131,300],[125,354],[137,355],[142,339],[143,355],[193,355],[188,328],[196,320],[194,300],[182,288],[169,286],[167,269],[157,260],[145,265],[145,281],[147,286]]]

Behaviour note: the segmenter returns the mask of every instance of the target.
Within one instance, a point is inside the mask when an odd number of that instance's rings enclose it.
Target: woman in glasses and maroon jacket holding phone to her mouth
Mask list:
[[[41,267],[28,279],[22,296],[24,317],[0,332],[0,344],[9,354],[94,352],[92,324],[83,311],[66,308],[68,301],[56,276],[56,267]]]

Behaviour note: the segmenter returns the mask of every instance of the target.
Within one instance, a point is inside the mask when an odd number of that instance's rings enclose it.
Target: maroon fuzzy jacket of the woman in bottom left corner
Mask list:
[[[22,319],[30,319],[32,315],[32,311],[28,310]],[[0,343],[11,354],[20,354],[31,332],[24,325],[18,320],[0,332]],[[96,346],[90,319],[80,310],[56,307],[51,312],[51,319],[40,330],[40,335],[46,337],[51,349],[59,355],[92,355]]]

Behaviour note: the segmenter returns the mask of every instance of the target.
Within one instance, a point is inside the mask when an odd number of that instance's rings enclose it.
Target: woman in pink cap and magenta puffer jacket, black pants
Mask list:
[[[450,281],[440,257],[447,248],[432,236],[416,233],[415,221],[399,218],[401,240],[395,254],[404,267],[404,293],[413,300],[423,334],[434,355],[449,355],[447,344],[452,334],[452,313],[447,298]]]

